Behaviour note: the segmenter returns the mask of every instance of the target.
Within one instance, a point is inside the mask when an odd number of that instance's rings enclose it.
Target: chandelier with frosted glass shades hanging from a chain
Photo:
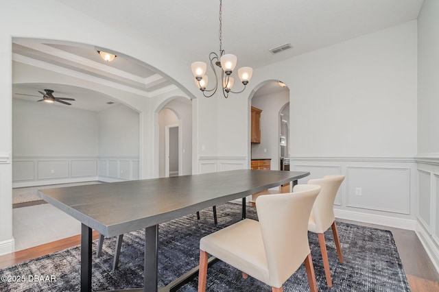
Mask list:
[[[231,53],[226,53],[222,49],[222,0],[219,0],[219,55],[215,52],[209,53],[209,61],[213,74],[215,75],[215,86],[212,89],[206,89],[209,77],[206,75],[207,64],[205,62],[193,62],[191,64],[192,73],[195,76],[195,84],[200,88],[204,97],[212,97],[218,88],[218,75],[215,65],[221,69],[221,84],[224,97],[228,93],[242,93],[252,77],[253,69],[251,67],[241,67],[238,69],[238,76],[244,88],[241,91],[232,91],[235,79],[231,77],[233,69],[237,63],[237,57]]]

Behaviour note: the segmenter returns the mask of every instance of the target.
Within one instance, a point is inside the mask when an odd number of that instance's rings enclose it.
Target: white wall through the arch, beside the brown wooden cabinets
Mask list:
[[[252,143],[252,158],[271,158],[271,169],[278,170],[279,165],[279,113],[289,102],[287,90],[270,95],[258,95],[252,98],[252,106],[261,112],[261,143]],[[266,150],[266,152],[265,152]]]

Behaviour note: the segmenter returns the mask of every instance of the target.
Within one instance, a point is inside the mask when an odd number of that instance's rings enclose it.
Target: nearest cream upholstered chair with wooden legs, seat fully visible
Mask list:
[[[308,219],[320,186],[301,184],[295,193],[257,198],[259,222],[244,219],[200,240],[198,291],[206,290],[209,254],[282,291],[283,283],[305,262],[311,291],[317,291],[308,243]]]

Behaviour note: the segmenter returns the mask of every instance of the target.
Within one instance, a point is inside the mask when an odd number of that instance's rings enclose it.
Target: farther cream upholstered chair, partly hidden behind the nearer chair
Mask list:
[[[308,230],[318,234],[324,274],[327,278],[327,285],[332,287],[331,270],[329,269],[329,260],[327,245],[324,241],[324,232],[332,228],[335,247],[337,248],[338,260],[344,263],[342,247],[338,237],[337,226],[335,225],[334,200],[337,191],[344,180],[344,175],[325,175],[323,178],[309,180],[308,184],[321,186],[320,194],[317,196],[309,217]]]

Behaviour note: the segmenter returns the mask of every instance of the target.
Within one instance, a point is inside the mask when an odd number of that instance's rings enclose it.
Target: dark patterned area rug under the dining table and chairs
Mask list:
[[[206,234],[224,228],[241,217],[240,204],[217,206],[218,225],[212,209],[163,223],[159,227],[159,284],[165,286],[189,271],[199,260],[199,241]],[[248,218],[257,219],[254,208]],[[325,234],[333,287],[326,285],[316,234],[309,234],[311,255],[319,291],[410,291],[392,233],[347,223],[337,223],[344,264],[338,263],[331,231]],[[115,239],[106,239],[101,258],[93,262],[93,291],[143,287],[143,230],[123,237],[119,268],[112,271]],[[95,252],[97,242],[93,242]],[[79,291],[80,247],[0,269],[0,291]],[[179,291],[196,291],[198,278]],[[241,271],[222,262],[208,270],[207,291],[271,291],[254,278],[241,278]],[[309,291],[302,265],[283,285],[284,291]]]

